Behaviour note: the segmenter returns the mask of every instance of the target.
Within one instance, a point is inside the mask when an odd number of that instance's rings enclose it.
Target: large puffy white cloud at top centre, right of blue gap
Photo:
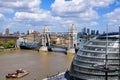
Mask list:
[[[86,12],[89,10],[88,5],[86,5],[84,0],[55,0],[51,5],[51,8],[53,15],[66,18],[83,18],[83,16],[88,15]]]

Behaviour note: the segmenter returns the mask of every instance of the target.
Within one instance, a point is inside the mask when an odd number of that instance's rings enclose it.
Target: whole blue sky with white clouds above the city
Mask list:
[[[45,25],[51,32],[67,32],[74,24],[101,33],[118,31],[120,0],[0,0],[0,32],[41,32]]]

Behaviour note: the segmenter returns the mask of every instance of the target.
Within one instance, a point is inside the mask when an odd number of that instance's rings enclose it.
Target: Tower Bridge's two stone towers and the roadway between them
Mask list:
[[[35,40],[41,42],[39,51],[52,51],[54,49],[65,50],[66,53],[76,53],[77,48],[77,28],[72,24],[68,29],[68,45],[65,46],[53,46],[50,40],[50,29],[45,25],[42,29],[42,34]]]

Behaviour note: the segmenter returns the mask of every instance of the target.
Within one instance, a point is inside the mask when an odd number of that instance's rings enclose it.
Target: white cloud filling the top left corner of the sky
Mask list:
[[[39,11],[40,0],[0,0],[0,7],[4,12],[13,11]]]

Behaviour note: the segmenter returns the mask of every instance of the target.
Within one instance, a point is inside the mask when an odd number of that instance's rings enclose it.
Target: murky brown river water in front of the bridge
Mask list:
[[[60,52],[37,52],[15,50],[0,52],[0,80],[42,80],[70,68],[74,55]],[[16,69],[25,69],[30,74],[19,79],[6,79],[5,75]]]

